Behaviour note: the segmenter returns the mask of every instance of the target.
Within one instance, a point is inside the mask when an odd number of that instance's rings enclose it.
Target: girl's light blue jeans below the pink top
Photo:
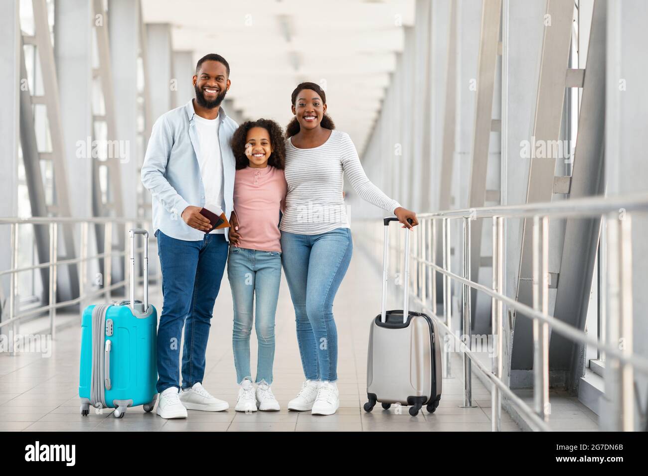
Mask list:
[[[234,300],[234,332],[232,347],[237,383],[252,380],[249,369],[249,336],[252,332],[253,306],[256,295],[255,330],[259,352],[257,378],[272,384],[275,358],[275,312],[281,284],[281,253],[257,249],[229,247],[227,278]]]

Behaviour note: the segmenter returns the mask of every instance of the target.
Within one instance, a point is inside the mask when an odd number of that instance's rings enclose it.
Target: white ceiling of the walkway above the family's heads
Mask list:
[[[330,117],[363,150],[403,48],[414,0],[142,0],[146,23],[170,23],[174,51],[229,62],[227,98],[246,119],[286,126],[290,94],[322,85]],[[401,26],[402,25],[402,26]]]

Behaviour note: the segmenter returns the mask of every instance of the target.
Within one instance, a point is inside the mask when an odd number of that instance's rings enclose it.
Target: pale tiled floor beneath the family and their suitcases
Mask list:
[[[142,407],[128,409],[122,419],[113,418],[112,410],[81,416],[77,394],[80,336],[78,327],[70,326],[56,335],[49,358],[38,354],[0,355],[0,430],[490,431],[490,393],[477,378],[472,380],[472,394],[478,406],[472,409],[459,407],[462,402],[459,380],[462,374],[456,354],[452,359],[454,378],[443,381],[443,397],[435,414],[421,411],[412,417],[406,408],[402,409],[402,414],[397,414],[395,407],[384,411],[380,405],[376,405],[372,413],[362,410],[366,398],[367,334],[369,321],[379,311],[380,275],[375,273],[375,267],[358,245],[334,305],[339,335],[338,389],[341,400],[337,414],[312,416],[310,413],[286,411],[286,403],[301,388],[303,374],[295,338],[294,312],[285,282],[282,283],[277,309],[277,349],[272,385],[282,409],[277,413],[255,414],[233,410],[237,386],[231,352],[232,306],[229,284],[224,278],[217,303],[225,311],[216,313],[213,318],[203,385],[215,396],[229,402],[231,408],[228,411],[189,411],[187,420],[168,421],[155,413],[144,413]],[[161,298],[156,293],[152,294],[151,302],[158,310],[161,308]],[[255,335],[252,338],[252,361],[255,363]],[[584,407],[566,398],[562,400],[563,403],[555,403],[553,407],[553,419],[557,420],[558,429],[562,429],[561,425],[564,429],[573,429],[570,420],[584,416]],[[590,427],[596,428],[594,419],[585,419]],[[519,431],[520,428],[504,413],[502,429]]]

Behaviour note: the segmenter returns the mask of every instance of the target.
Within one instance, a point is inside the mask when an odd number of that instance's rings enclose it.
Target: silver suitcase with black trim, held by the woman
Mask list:
[[[430,316],[410,311],[410,231],[405,230],[405,272],[403,309],[386,311],[389,233],[391,221],[384,219],[382,269],[382,306],[371,321],[367,352],[367,398],[365,411],[381,402],[384,409],[392,403],[410,405],[412,416],[423,405],[434,413],[441,400],[441,344],[437,324]]]

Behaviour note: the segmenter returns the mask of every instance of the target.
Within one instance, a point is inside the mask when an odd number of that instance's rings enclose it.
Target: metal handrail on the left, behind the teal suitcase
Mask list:
[[[75,258],[67,258],[65,260],[58,260],[58,225],[70,225],[80,223],[80,256]],[[98,295],[104,295],[106,301],[111,300],[111,292],[114,289],[124,288],[128,286],[128,269],[126,261],[128,260],[128,253],[126,251],[126,244],[128,243],[127,236],[124,236],[124,249],[113,250],[113,225],[126,225],[126,228],[135,228],[135,225],[141,224],[143,227],[150,225],[150,220],[146,218],[113,218],[113,217],[87,217],[87,218],[74,218],[74,217],[32,217],[32,218],[0,218],[0,225],[11,226],[11,267],[8,270],[0,271],[0,277],[10,276],[10,295],[8,305],[8,319],[0,322],[0,328],[10,326],[13,336],[16,335],[16,324],[26,317],[38,315],[43,312],[49,311],[49,326],[50,333],[54,337],[56,310],[72,306],[75,304],[83,304],[89,299],[93,299]],[[48,225],[49,226],[49,262],[44,262],[32,266],[17,267],[18,257],[18,227],[19,225]],[[87,254],[87,236],[89,225],[104,225],[104,250],[102,253],[95,255]],[[127,231],[126,231],[127,234]],[[135,253],[143,251],[144,247],[135,249]],[[111,269],[111,260],[113,257],[124,258],[124,279],[118,282],[112,282],[111,272],[108,271],[104,276],[102,287],[98,289],[88,289],[86,291],[87,280],[87,262],[90,260],[104,259],[104,269]],[[74,299],[56,302],[56,271],[60,266],[67,266],[70,264],[80,264],[82,267],[78,273],[79,277],[79,295]],[[49,302],[43,306],[32,308],[25,312],[18,312],[17,310],[17,279],[18,273],[31,271],[34,269],[49,269]],[[144,277],[136,277],[135,280],[139,283]],[[15,354],[15,352],[10,352]]]

